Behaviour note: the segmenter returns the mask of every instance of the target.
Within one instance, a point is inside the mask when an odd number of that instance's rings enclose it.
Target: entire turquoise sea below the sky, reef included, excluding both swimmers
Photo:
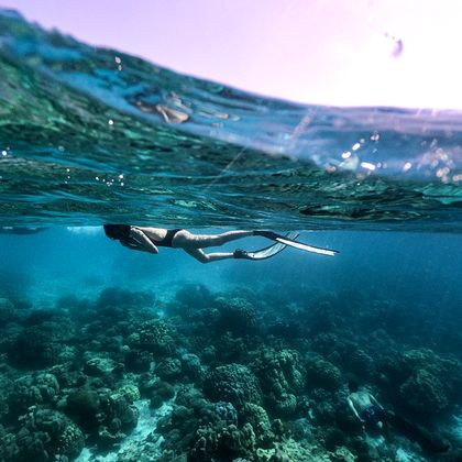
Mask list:
[[[460,460],[461,182],[460,113],[267,99],[1,11],[0,460]],[[107,222],[340,254],[200,265]],[[364,433],[352,376],[414,432]]]

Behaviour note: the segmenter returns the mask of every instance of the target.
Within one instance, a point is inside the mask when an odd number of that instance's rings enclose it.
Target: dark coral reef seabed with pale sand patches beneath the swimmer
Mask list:
[[[107,287],[47,307],[3,294],[0,460],[460,460],[448,428],[462,358],[435,341],[429,312],[258,290],[184,284],[163,301]],[[462,351],[450,314],[438,329]],[[418,431],[367,436],[346,405],[352,380]]]

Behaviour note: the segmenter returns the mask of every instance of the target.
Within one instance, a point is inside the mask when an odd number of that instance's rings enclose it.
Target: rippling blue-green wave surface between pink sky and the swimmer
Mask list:
[[[462,118],[256,97],[0,15],[4,224],[459,232]]]

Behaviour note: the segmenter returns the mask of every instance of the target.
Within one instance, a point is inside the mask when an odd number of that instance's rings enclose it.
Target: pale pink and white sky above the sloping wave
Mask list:
[[[459,0],[0,0],[44,28],[253,92],[462,109]]]

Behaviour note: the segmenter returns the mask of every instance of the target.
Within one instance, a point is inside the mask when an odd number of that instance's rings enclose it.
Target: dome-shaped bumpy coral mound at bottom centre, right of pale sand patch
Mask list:
[[[241,409],[246,403],[262,404],[262,392],[253,372],[242,364],[227,364],[206,377],[204,392],[211,400],[227,400]]]

